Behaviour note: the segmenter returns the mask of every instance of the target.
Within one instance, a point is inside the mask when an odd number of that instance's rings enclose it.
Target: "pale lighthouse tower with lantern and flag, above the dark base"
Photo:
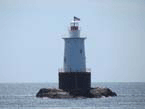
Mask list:
[[[74,17],[70,23],[69,37],[63,38],[65,41],[64,49],[64,71],[65,72],[85,72],[86,57],[85,44],[86,38],[80,37],[79,18]]]

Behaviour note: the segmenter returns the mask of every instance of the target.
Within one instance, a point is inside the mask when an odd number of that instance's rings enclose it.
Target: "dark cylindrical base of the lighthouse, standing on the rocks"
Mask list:
[[[86,95],[91,88],[91,72],[59,72],[59,88]]]

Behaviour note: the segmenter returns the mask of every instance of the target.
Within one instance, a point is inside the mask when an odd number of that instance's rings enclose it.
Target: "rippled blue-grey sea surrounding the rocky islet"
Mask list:
[[[117,97],[50,99],[36,98],[40,88],[56,83],[0,83],[0,109],[145,109],[145,83],[92,83],[108,87]]]

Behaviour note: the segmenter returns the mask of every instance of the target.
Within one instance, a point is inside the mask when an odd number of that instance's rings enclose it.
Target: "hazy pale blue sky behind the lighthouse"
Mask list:
[[[58,82],[73,16],[92,82],[145,82],[145,0],[0,0],[0,82]]]

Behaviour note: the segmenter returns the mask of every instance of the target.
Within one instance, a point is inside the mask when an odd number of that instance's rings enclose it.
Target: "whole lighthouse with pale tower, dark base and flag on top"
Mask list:
[[[80,18],[74,17],[69,36],[64,39],[63,68],[59,70],[59,88],[85,95],[91,87],[91,71],[86,68],[85,39],[80,36]]]

